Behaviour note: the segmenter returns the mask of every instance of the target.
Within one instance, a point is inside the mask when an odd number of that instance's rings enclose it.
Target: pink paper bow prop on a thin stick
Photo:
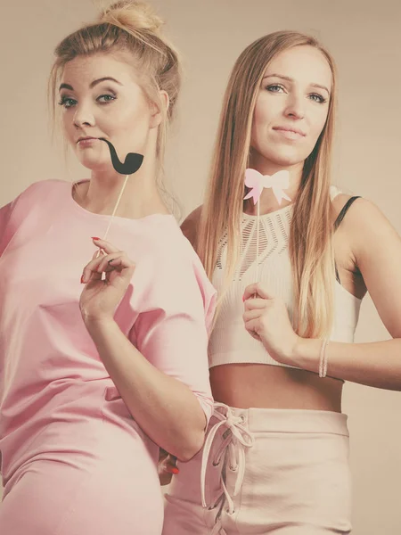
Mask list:
[[[253,204],[257,205],[257,258],[256,258],[256,282],[259,282],[259,220],[260,220],[260,195],[265,187],[271,187],[279,205],[282,199],[291,201],[284,190],[290,185],[289,171],[277,171],[274,175],[262,175],[256,169],[246,169],[245,185],[250,188],[250,192],[243,198],[244,201],[252,198]]]

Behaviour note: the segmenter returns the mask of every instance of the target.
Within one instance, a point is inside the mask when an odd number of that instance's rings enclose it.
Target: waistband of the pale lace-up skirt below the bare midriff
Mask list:
[[[228,408],[250,432],[323,432],[349,436],[348,416],[343,413],[298,408],[236,408],[223,403],[216,403],[214,411],[225,414]],[[209,425],[213,424],[216,424],[216,416],[211,417]]]

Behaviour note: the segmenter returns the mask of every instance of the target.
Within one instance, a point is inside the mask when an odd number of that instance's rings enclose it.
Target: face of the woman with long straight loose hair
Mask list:
[[[277,54],[259,88],[253,167],[290,167],[307,159],[327,119],[331,84],[330,66],[316,48],[296,46]]]

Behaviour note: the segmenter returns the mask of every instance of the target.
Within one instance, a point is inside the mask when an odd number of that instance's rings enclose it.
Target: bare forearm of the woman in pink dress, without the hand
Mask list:
[[[178,459],[192,458],[201,449],[206,425],[192,391],[151,365],[114,321],[89,320],[86,328],[137,424]]]

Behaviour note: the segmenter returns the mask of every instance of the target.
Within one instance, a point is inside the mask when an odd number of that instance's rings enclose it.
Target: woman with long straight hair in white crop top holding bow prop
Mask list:
[[[209,192],[183,224],[219,295],[215,413],[203,451],[178,464],[164,535],[351,531],[341,391],[401,390],[401,242],[331,185],[335,107],[334,62],[313,37],[261,37],[233,67]],[[353,343],[367,291],[392,340]]]

